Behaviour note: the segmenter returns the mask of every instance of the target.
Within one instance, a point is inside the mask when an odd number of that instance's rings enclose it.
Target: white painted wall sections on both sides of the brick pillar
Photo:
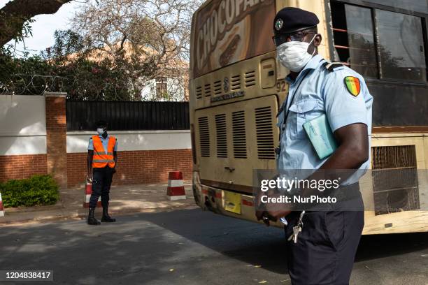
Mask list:
[[[110,131],[120,151],[190,149],[190,130]],[[87,152],[95,132],[67,132],[67,152]],[[0,155],[46,154],[45,96],[0,96]]]

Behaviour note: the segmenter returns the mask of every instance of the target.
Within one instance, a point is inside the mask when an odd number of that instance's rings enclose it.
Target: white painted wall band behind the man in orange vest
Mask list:
[[[87,152],[87,143],[96,132],[67,132],[67,153]],[[109,131],[117,138],[118,151],[190,149],[190,130],[179,131]]]

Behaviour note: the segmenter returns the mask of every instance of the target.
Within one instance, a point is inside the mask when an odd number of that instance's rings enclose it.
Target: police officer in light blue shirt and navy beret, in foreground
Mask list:
[[[358,180],[369,168],[373,97],[364,78],[318,54],[322,37],[318,17],[299,8],[283,8],[273,22],[277,56],[290,70],[287,99],[278,113],[278,170],[354,170],[340,191],[354,195],[358,210],[337,206],[331,211],[258,211],[257,219],[284,217],[288,270],[292,284],[349,284],[364,226]],[[319,159],[303,129],[304,122],[326,115],[338,148]],[[355,205],[355,204],[354,204]],[[294,240],[293,227],[301,222]],[[292,238],[293,237],[293,238]]]

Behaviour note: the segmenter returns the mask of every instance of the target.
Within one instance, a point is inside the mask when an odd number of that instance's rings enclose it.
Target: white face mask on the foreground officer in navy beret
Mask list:
[[[313,36],[310,43],[290,41],[283,43],[282,45],[278,45],[278,47],[276,47],[276,56],[278,57],[280,63],[283,64],[283,66],[286,68],[290,69],[290,71],[301,71],[315,53],[314,48],[313,53],[308,54],[308,47],[313,42],[315,36]]]

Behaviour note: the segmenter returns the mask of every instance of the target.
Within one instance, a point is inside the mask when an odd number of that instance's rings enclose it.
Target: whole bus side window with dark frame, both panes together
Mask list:
[[[331,18],[336,61],[366,78],[427,80],[420,17],[333,2]]]

